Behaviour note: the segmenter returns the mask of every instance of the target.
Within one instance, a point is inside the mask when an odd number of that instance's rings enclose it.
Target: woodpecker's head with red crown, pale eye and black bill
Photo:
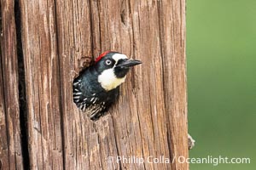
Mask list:
[[[107,51],[96,58],[96,71],[98,82],[106,91],[117,88],[125,82],[125,77],[130,68],[140,65],[142,62],[136,59],[128,59],[125,54]]]

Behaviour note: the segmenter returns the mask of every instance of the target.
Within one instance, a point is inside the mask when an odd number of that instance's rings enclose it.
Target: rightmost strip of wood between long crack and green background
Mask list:
[[[185,0],[160,2],[160,15],[163,83],[164,91],[169,92],[165,94],[165,105],[167,126],[171,129],[168,132],[171,157],[188,157]],[[189,164],[174,161],[172,169],[189,169]]]

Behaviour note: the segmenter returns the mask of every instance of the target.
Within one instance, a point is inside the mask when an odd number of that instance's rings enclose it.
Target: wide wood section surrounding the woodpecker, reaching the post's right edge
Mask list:
[[[185,2],[57,0],[56,7],[65,167],[188,169],[177,161],[106,161],[108,156],[188,156]],[[73,105],[69,89],[83,56],[105,50],[142,59],[143,65],[132,69],[110,114],[90,122]]]

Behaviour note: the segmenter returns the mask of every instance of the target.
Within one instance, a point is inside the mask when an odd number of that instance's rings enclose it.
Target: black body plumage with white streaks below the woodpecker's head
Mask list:
[[[106,91],[98,82],[97,77],[98,72],[91,66],[73,81],[73,102],[81,111],[87,112],[91,120],[104,115],[109,107],[119,99],[119,87]]]

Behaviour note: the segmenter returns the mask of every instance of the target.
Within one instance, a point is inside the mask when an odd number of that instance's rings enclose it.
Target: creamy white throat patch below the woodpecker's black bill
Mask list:
[[[98,82],[101,83],[102,88],[109,91],[113,88],[117,88],[121,83],[125,82],[125,77],[116,77],[114,75],[113,68],[111,68],[106,71],[102,71],[102,74],[98,77]]]

